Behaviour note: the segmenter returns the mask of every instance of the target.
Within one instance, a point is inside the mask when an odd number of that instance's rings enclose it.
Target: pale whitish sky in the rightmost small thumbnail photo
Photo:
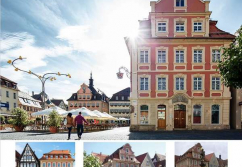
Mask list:
[[[198,142],[176,142],[175,154],[183,155],[189,148]],[[221,155],[222,159],[228,159],[228,143],[227,142],[200,142],[205,154],[215,153],[216,157]]]

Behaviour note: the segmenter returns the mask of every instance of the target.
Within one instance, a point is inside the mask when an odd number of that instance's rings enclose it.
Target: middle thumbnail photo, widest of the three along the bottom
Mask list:
[[[165,143],[86,142],[84,167],[165,167]]]

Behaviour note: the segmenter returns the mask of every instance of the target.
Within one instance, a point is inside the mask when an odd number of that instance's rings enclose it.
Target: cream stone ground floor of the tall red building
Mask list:
[[[229,98],[190,98],[177,94],[167,99],[131,100],[130,131],[176,129],[229,129]]]

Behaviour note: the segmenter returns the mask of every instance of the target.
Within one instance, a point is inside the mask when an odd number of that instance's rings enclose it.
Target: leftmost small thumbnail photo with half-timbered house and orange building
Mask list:
[[[74,142],[17,142],[16,167],[75,167]]]

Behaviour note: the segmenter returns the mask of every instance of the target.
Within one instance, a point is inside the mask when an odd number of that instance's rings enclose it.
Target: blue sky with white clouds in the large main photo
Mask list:
[[[94,86],[108,96],[129,87],[118,80],[120,66],[129,68],[124,37],[147,18],[149,0],[2,0],[1,75],[16,81],[19,89],[41,91],[37,78],[15,72],[6,63],[19,55],[18,66],[38,74],[70,73],[46,83],[51,98],[68,99],[93,72]],[[134,8],[135,6],[135,8]],[[242,1],[211,0],[211,18],[218,27],[234,33],[241,25]]]

